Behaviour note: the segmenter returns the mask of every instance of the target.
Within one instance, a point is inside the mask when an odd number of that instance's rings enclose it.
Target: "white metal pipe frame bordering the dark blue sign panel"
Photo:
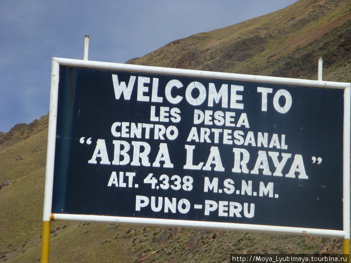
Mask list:
[[[260,82],[270,84],[284,84],[294,86],[308,86],[318,88],[342,89],[344,90],[344,117],[343,117],[343,230],[315,229],[303,227],[285,227],[272,225],[255,225],[242,223],[209,222],[209,221],[187,221],[177,219],[158,218],[136,218],[118,217],[103,215],[82,215],[82,214],[59,214],[51,212],[53,196],[55,142],[56,142],[56,121],[57,102],[59,86],[59,67],[72,66],[92,69],[120,70],[142,73],[169,74],[186,77],[216,78],[222,80],[235,80],[247,82]],[[350,238],[350,83],[314,81],[304,79],[278,78],[267,76],[254,76],[232,73],[218,73],[198,70],[172,69],[150,66],[137,66],[119,63],[96,62],[87,60],[75,60],[65,58],[53,58],[51,75],[50,111],[49,111],[49,131],[47,166],[45,180],[45,196],[43,221],[90,221],[90,222],[110,222],[123,224],[177,226],[193,228],[212,228],[226,230],[242,230],[255,232],[287,233],[316,236],[332,236]]]

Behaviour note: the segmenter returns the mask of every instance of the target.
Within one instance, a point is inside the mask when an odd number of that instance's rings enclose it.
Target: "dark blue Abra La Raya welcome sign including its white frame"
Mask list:
[[[54,219],[345,235],[349,84],[54,65]]]

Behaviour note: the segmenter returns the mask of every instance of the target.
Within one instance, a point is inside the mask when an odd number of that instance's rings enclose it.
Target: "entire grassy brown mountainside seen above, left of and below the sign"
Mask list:
[[[351,82],[351,3],[300,0],[277,12],[175,40],[127,63]],[[0,133],[0,262],[40,258],[48,116]],[[223,261],[230,253],[340,253],[341,239],[52,222],[53,262]]]

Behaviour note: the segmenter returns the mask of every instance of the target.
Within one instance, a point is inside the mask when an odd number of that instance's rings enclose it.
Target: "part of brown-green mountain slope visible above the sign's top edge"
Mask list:
[[[350,82],[350,8],[349,1],[298,1],[234,26],[175,40],[127,63],[316,79],[321,56],[323,80]]]

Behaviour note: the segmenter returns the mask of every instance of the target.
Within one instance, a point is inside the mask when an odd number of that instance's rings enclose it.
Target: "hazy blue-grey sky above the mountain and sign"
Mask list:
[[[124,63],[296,0],[1,0],[0,132],[49,112],[52,57]]]

